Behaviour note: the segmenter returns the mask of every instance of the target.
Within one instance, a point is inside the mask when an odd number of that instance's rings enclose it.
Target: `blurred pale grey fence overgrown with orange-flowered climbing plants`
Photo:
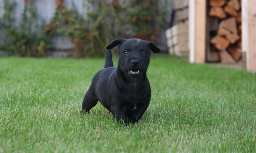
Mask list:
[[[178,21],[172,6],[172,0],[0,0],[0,54],[100,57],[117,38],[150,40],[168,53],[165,30]]]

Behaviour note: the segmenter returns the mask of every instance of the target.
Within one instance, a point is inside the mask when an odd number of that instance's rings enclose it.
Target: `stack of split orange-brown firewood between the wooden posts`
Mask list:
[[[238,62],[242,56],[241,0],[209,0],[209,5],[208,61]]]

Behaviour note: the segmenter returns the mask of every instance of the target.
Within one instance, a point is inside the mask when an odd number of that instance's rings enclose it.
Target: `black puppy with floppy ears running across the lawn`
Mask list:
[[[113,67],[113,47],[119,46],[118,66]],[[124,123],[138,122],[149,105],[151,90],[146,75],[150,49],[160,49],[151,41],[140,39],[117,39],[107,47],[104,69],[95,74],[84,96],[82,112],[89,112],[98,101],[117,120]]]

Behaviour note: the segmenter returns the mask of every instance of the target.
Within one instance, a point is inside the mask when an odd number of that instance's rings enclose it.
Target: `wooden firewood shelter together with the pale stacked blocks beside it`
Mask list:
[[[173,0],[173,5],[178,24],[166,30],[170,54],[256,71],[254,0]]]

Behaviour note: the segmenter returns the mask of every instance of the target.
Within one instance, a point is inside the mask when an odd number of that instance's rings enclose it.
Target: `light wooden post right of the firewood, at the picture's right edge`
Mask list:
[[[256,72],[256,3],[248,0],[248,50],[246,53],[246,69]],[[244,41],[244,40],[243,40]]]

